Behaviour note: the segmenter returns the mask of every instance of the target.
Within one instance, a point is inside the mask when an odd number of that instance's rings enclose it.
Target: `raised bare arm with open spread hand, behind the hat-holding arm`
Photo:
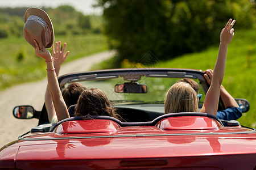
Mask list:
[[[65,61],[65,59],[67,58],[68,53],[69,53],[69,51],[68,51],[64,54],[66,46],[67,46],[67,44],[64,43],[63,49],[61,50],[61,41],[55,42],[55,48],[54,48],[54,45],[52,45],[52,56],[54,58],[53,65],[55,67],[55,73],[57,76],[59,76],[61,64]],[[56,116],[56,112],[55,112],[55,108],[53,105],[52,96],[49,92],[48,84],[46,87],[46,94],[44,95],[44,101],[46,104],[49,122],[52,122],[53,117]]]

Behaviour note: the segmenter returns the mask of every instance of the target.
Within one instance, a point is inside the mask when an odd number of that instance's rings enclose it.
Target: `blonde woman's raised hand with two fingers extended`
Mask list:
[[[229,19],[228,23],[226,23],[225,28],[222,29],[220,33],[220,41],[223,45],[229,45],[234,36],[234,23],[236,20]]]

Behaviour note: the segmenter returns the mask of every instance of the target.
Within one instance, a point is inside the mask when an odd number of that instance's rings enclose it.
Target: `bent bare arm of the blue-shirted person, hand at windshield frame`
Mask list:
[[[213,70],[206,70],[204,74],[204,78],[207,80],[208,84],[211,84],[212,82],[212,75],[213,75]],[[225,108],[227,107],[239,107],[236,100],[232,97],[232,95],[229,94],[228,91],[221,85],[220,88],[220,96],[221,99],[225,105]]]

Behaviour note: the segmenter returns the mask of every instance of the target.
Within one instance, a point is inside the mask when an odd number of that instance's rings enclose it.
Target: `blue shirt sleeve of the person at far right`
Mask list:
[[[242,110],[237,107],[227,107],[223,111],[219,111],[216,114],[216,117],[221,120],[237,120],[242,116]]]

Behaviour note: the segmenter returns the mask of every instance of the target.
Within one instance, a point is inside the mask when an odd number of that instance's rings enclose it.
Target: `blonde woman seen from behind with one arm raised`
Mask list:
[[[205,96],[204,104],[200,112],[209,113],[213,116],[217,114],[221,83],[225,73],[226,54],[228,52],[228,45],[234,36],[233,25],[235,22],[236,20],[232,21],[232,19],[229,19],[225,28],[223,28],[220,33],[220,48],[213,70],[212,83]],[[164,112],[198,112],[198,100],[196,91],[193,90],[190,84],[185,82],[175,83],[166,94]]]

